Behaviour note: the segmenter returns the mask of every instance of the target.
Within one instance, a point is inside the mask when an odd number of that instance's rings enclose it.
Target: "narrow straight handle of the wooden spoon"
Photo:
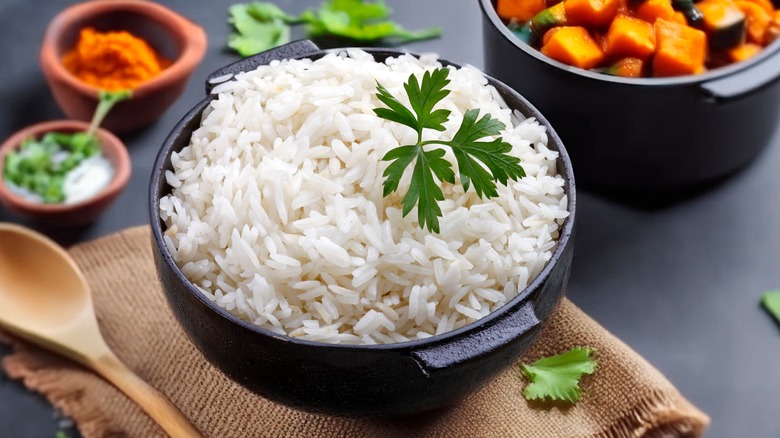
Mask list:
[[[172,438],[202,438],[200,432],[167,397],[135,375],[113,353],[101,356],[90,365],[135,401]]]

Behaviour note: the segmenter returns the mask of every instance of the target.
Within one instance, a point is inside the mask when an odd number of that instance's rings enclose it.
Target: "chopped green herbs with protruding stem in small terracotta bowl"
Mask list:
[[[47,132],[39,139],[27,138],[9,152],[3,163],[3,180],[41,197],[44,203],[65,200],[65,176],[85,159],[100,153],[95,135],[113,106],[131,96],[129,90],[101,91],[86,132]]]

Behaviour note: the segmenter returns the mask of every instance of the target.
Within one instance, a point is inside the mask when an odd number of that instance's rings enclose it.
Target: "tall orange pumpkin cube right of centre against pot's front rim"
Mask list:
[[[707,35],[692,27],[658,19],[655,22],[656,51],[653,76],[702,73],[707,57]]]

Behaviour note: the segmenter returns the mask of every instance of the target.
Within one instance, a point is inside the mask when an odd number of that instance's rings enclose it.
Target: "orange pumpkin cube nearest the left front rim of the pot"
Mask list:
[[[590,69],[604,61],[604,52],[591,38],[587,29],[579,26],[559,27],[546,38],[542,53],[574,67]]]

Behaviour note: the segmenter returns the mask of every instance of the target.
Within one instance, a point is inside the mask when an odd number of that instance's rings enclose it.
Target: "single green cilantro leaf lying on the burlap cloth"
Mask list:
[[[596,362],[590,357],[590,348],[572,348],[557,356],[545,357],[531,365],[520,365],[530,383],[523,395],[526,400],[564,400],[571,403],[580,399],[580,378],[592,374]]]

